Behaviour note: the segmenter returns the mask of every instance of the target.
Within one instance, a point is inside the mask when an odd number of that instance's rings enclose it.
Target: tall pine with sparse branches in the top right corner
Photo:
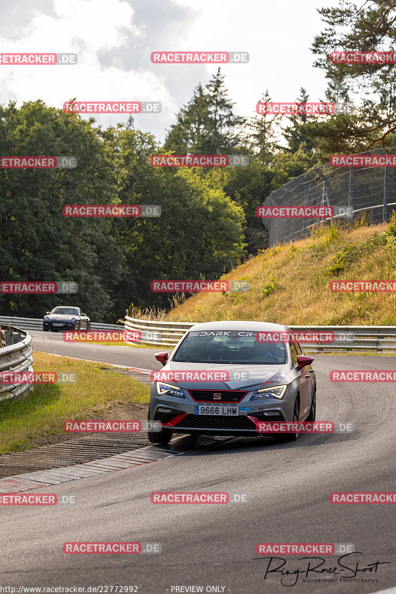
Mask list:
[[[329,80],[330,100],[348,99],[350,93],[366,96],[353,116],[336,116],[334,121],[305,127],[311,140],[318,141],[321,156],[334,149],[350,151],[389,146],[389,134],[396,130],[396,78],[392,64],[332,64],[333,50],[370,52],[394,47],[396,1],[371,0],[359,8],[350,1],[337,8],[318,9],[327,25],[312,44],[318,56],[315,67],[322,68]],[[379,97],[379,101],[372,97]]]

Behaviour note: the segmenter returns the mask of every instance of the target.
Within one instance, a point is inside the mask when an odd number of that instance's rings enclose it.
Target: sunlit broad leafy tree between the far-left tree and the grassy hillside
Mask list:
[[[194,170],[153,168],[154,137],[108,129],[119,174],[121,204],[159,204],[161,217],[119,219],[114,233],[125,246],[125,274],[116,287],[124,304],[169,306],[167,293],[152,293],[151,280],[216,279],[243,257],[243,209]],[[116,148],[118,147],[118,148]]]

